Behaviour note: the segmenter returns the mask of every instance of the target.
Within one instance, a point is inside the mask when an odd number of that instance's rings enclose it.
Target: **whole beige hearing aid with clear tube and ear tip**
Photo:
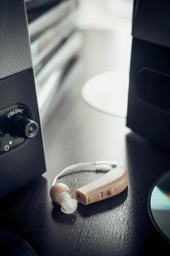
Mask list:
[[[56,181],[64,172],[80,167],[85,169],[85,166],[92,166],[95,168],[95,171],[103,168],[109,168],[111,170],[97,180],[75,190],[75,197],[80,203],[88,205],[111,198],[121,193],[127,187],[127,171],[115,161],[97,161],[95,163],[80,163],[70,166],[55,177],[54,185],[50,190],[51,199],[62,206],[62,212],[73,213],[77,209],[77,201],[71,198],[71,192],[68,186],[63,183],[56,183]]]

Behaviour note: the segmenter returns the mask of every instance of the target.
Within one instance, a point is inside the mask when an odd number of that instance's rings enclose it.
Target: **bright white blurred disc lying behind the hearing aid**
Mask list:
[[[88,80],[82,88],[82,98],[99,111],[125,117],[128,85],[128,74],[113,70]]]

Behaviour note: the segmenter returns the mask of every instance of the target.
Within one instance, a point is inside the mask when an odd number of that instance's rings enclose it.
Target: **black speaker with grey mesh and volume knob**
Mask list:
[[[0,197],[45,172],[24,0],[0,0]]]

